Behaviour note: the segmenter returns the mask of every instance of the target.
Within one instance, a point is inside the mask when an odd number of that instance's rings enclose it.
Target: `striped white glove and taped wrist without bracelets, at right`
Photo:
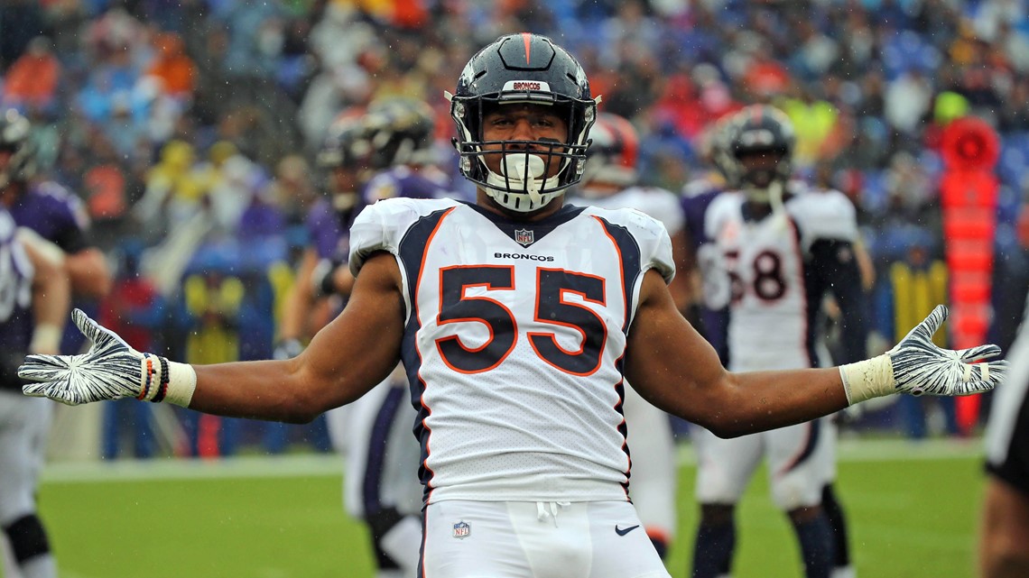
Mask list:
[[[947,308],[936,305],[903,339],[883,355],[842,365],[840,375],[853,404],[893,393],[914,396],[972,395],[992,390],[1004,381],[1008,362],[996,360],[1000,348],[993,345],[967,350],[945,350],[932,342],[932,334],[947,319]],[[982,362],[982,363],[977,363]]]

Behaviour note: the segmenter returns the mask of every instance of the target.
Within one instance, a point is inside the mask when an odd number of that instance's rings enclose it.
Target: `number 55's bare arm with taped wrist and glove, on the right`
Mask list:
[[[984,361],[999,348],[951,351],[932,344],[946,317],[947,309],[936,308],[895,348],[858,363],[732,373],[675,311],[660,276],[648,273],[629,333],[626,374],[654,405],[723,437],[811,421],[872,397],[969,395],[1003,381],[1007,362]]]

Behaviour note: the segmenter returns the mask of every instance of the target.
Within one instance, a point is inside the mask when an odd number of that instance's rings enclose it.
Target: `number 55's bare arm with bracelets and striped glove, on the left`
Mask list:
[[[90,338],[76,356],[33,355],[19,375],[26,395],[70,405],[135,397],[219,416],[304,423],[349,403],[396,365],[403,331],[400,277],[389,255],[368,259],[347,309],[299,356],[190,366],[137,352],[80,311]]]

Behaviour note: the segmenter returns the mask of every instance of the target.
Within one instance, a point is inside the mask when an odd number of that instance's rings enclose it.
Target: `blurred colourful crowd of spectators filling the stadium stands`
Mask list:
[[[438,113],[440,167],[467,189],[443,91],[478,46],[522,30],[568,47],[602,109],[637,127],[644,184],[718,186],[704,152],[712,123],[756,102],[785,110],[801,175],[858,208],[885,342],[895,266],[944,260],[943,129],[985,119],[1000,136],[988,337],[1010,342],[1029,280],[1021,0],[8,0],[0,105],[29,116],[40,173],[82,198],[117,283],[143,295],[131,311],[117,289],[114,302],[79,306],[183,361],[267,358],[325,128],[378,97],[423,99]],[[132,293],[139,279],[152,291]],[[232,421],[183,423],[179,454],[247,442]],[[297,435],[260,427],[271,451]],[[299,435],[328,447],[317,425]],[[112,433],[104,453],[117,451]]]

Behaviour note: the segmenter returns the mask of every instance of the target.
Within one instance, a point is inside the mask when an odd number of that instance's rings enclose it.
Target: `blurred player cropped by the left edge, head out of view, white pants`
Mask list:
[[[58,353],[70,302],[64,253],[0,207],[0,529],[21,578],[55,578],[57,563],[36,509],[50,404],[22,395],[19,357]],[[43,403],[35,403],[42,401]]]

